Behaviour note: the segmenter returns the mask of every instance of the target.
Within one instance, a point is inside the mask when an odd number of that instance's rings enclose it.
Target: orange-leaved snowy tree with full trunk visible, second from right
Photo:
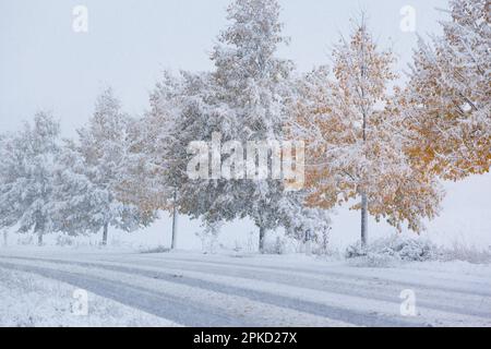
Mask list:
[[[331,208],[359,197],[361,241],[368,216],[402,229],[422,229],[438,213],[442,193],[432,176],[411,168],[405,154],[400,111],[388,93],[395,58],[380,51],[361,19],[349,40],[334,49],[334,79],[326,67],[299,83],[292,131],[308,144],[307,183],[311,206]]]

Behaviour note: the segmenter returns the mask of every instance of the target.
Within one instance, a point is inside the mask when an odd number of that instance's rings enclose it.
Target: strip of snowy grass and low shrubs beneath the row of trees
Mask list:
[[[121,237],[118,234],[118,238]],[[17,239],[15,241],[15,238]],[[251,242],[252,244],[252,242]],[[271,234],[265,243],[266,255],[290,255],[300,257],[306,255],[306,246],[300,242],[292,242],[291,239],[282,238],[279,233]],[[5,250],[4,246],[0,248]],[[50,234],[45,239],[45,245],[37,246],[33,236],[11,234],[7,250],[11,251],[33,251],[36,252],[58,252],[70,253],[167,253],[170,248],[158,241],[155,243],[131,243],[124,240],[111,239],[109,245],[100,245],[94,237],[63,237],[61,234]],[[199,253],[200,249],[179,250]],[[211,251],[201,251],[205,254],[232,255],[237,257],[254,256],[258,254],[256,248],[227,248],[219,245]],[[464,261],[472,264],[491,264],[491,246],[465,243],[462,240],[454,240],[453,243],[439,245],[426,237],[415,234],[392,234],[386,238],[373,240],[366,249],[361,249],[359,242],[349,245],[347,249],[330,246],[327,250],[313,249],[312,255],[325,262],[346,262],[349,266],[356,267],[396,267],[408,262],[441,261],[453,262]]]

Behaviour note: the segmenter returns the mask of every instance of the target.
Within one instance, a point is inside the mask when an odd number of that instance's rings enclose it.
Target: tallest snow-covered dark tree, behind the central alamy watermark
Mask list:
[[[282,36],[279,10],[275,0],[235,0],[229,5],[230,25],[212,52],[215,70],[188,94],[187,117],[181,119],[185,128],[179,128],[185,130],[185,141],[209,142],[218,134],[223,143],[246,147],[251,141],[285,140],[294,64],[277,57],[278,47],[288,43]],[[189,155],[184,157],[189,161]],[[251,218],[263,251],[266,231],[285,225],[285,216],[294,214],[290,207],[301,207],[303,196],[286,192],[285,183],[272,178],[223,179],[212,171],[212,180],[187,181],[180,201],[183,212],[209,222]]]

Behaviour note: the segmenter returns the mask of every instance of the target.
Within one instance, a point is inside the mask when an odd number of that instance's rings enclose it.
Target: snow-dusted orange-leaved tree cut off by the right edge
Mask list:
[[[443,36],[419,40],[400,104],[418,166],[444,179],[491,166],[491,25],[487,0],[452,0]]]

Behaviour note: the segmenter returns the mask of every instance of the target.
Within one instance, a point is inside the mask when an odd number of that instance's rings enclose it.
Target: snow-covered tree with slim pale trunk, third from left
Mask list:
[[[181,209],[181,205],[197,200],[194,188],[189,190],[190,195],[183,195],[181,191],[189,181],[188,145],[202,137],[202,127],[206,125],[200,103],[200,94],[207,91],[203,85],[205,76],[185,72],[173,76],[165,72],[151,94],[149,110],[132,129],[127,155],[128,176],[123,192],[130,202],[144,210],[171,213],[172,249],[177,246],[179,212],[192,212],[191,208]]]

